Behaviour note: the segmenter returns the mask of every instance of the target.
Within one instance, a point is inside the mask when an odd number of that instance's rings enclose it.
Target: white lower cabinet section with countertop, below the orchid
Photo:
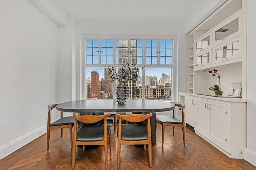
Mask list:
[[[185,103],[187,126],[230,158],[243,158],[246,100],[180,92],[180,101]]]

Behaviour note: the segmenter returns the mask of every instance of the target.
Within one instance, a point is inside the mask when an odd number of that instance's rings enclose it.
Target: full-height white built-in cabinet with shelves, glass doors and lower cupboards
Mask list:
[[[246,0],[228,0],[188,33],[186,125],[230,158],[243,158],[246,148]],[[209,87],[220,73],[222,97]],[[242,82],[240,97],[228,96],[231,82]]]

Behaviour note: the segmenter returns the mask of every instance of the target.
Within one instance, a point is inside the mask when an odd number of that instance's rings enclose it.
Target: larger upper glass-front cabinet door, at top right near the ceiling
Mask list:
[[[228,41],[228,39],[242,33],[242,13],[230,18],[214,29],[214,45]]]

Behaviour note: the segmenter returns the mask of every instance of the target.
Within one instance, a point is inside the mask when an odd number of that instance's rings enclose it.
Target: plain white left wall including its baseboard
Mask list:
[[[0,159],[46,131],[47,106],[58,102],[58,29],[27,0],[0,1]]]

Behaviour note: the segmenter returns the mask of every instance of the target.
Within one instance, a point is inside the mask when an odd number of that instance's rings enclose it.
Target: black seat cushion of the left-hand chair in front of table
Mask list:
[[[111,133],[111,124],[107,125],[108,137]],[[82,125],[76,135],[76,141],[102,141],[104,140],[104,125]]]

